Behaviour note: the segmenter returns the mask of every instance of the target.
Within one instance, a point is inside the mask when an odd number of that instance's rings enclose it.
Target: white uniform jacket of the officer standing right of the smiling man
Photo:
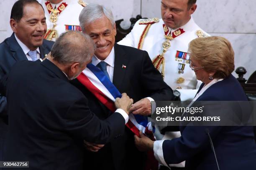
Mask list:
[[[139,22],[134,25],[133,30],[118,44],[127,45],[131,47],[138,47],[141,34],[146,27],[146,25],[139,25]],[[163,42],[166,40],[164,37],[164,21],[162,19],[159,22],[154,23],[148,30],[146,37],[144,38],[143,46],[141,50],[146,50],[151,58],[154,59],[157,55],[161,55],[163,51]],[[191,18],[187,24],[182,26],[180,29],[183,29],[185,32],[181,35],[175,37],[171,41],[171,47],[164,54],[165,68],[164,68],[164,81],[169,85],[173,90],[177,87],[181,87],[179,92],[181,93],[181,100],[192,100],[195,97],[197,92],[196,89],[199,88],[201,81],[198,81],[195,76],[195,72],[189,67],[189,63],[185,62],[184,73],[179,73],[179,63],[183,63],[182,60],[176,60],[177,51],[188,52],[189,42],[193,39],[199,37],[197,35],[197,30],[201,30],[204,35],[207,35]],[[171,30],[169,28],[169,30]],[[178,29],[176,29],[178,30]],[[175,30],[171,30],[171,33]],[[187,56],[189,59],[189,56]],[[161,66],[162,67],[162,66]],[[159,70],[161,70],[161,67]],[[177,80],[184,80],[183,83],[177,83]]]

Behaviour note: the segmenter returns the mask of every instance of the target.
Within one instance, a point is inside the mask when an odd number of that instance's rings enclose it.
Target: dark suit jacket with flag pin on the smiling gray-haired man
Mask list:
[[[114,50],[113,84],[121,93],[126,92],[134,102],[144,97],[152,97],[154,100],[172,100],[172,89],[166,85],[160,72],[154,68],[146,51],[118,44],[115,44]],[[126,68],[122,68],[122,65]],[[72,81],[72,84],[85,96],[90,96],[89,107],[101,120],[105,120],[112,114],[78,80]],[[126,128],[121,138],[105,145],[98,153],[85,152],[84,169],[143,169],[145,153],[137,150],[133,135],[131,130]],[[87,160],[90,160],[90,164]]]

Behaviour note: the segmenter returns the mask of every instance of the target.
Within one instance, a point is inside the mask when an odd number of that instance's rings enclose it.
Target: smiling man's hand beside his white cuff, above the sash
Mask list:
[[[143,98],[134,103],[130,109],[134,115],[151,115],[151,102],[147,98]]]

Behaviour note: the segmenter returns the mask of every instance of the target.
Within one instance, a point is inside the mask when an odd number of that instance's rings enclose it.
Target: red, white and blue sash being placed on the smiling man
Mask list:
[[[97,97],[108,109],[115,112],[115,99],[122,95],[108,77],[95,65],[88,64],[83,72],[77,77],[87,89]],[[147,118],[141,115],[129,115],[129,121],[126,126],[136,135],[139,131],[154,138],[154,127]]]

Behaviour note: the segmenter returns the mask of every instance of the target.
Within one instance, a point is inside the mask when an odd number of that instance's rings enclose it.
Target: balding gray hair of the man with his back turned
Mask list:
[[[53,60],[60,64],[91,60],[95,45],[89,35],[78,31],[67,31],[60,35],[51,48]]]

